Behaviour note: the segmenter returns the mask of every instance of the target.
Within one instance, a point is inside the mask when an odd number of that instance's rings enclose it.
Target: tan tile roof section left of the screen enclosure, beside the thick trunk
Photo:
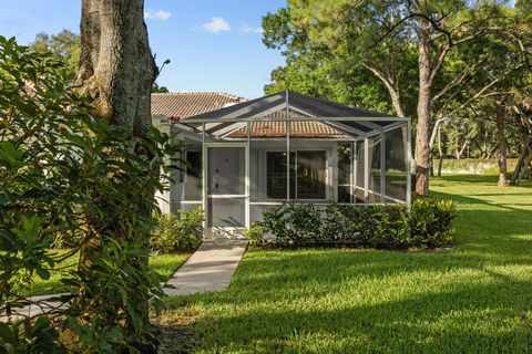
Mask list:
[[[224,92],[152,93],[152,115],[180,121],[246,101]]]

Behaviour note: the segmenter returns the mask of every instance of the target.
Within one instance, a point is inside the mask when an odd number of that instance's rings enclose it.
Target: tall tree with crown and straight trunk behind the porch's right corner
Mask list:
[[[288,13],[290,25],[306,33],[314,43],[334,53],[347,51],[352,61],[381,80],[396,113],[401,116],[406,114],[405,92],[409,92],[405,85],[413,81],[410,66],[405,62],[413,55],[417,61],[416,191],[427,195],[432,101],[457,86],[463,76],[458,72],[442,83],[441,70],[449,53],[483,35],[490,19],[498,15],[498,8],[494,1],[480,0],[289,0],[288,8],[282,11]],[[441,87],[439,93],[433,92],[437,86]]]

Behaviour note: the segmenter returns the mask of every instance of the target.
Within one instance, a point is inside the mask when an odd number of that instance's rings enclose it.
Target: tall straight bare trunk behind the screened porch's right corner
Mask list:
[[[416,192],[429,195],[430,164],[430,102],[431,102],[431,67],[430,67],[430,23],[419,20],[419,95],[418,95],[418,128],[416,132]]]

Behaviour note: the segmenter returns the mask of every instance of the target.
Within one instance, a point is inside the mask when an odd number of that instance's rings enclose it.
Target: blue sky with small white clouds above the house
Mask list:
[[[285,0],[145,0],[152,51],[163,69],[157,82],[171,92],[264,94],[278,51],[262,42],[262,17]],[[38,32],[79,33],[81,0],[0,0],[0,34],[30,43]]]

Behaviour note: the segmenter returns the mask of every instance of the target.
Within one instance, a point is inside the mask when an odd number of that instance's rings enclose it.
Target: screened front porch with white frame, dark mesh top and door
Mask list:
[[[288,200],[410,205],[409,118],[288,91],[225,105],[160,116],[187,146],[166,212],[203,207],[207,230],[227,230]]]

